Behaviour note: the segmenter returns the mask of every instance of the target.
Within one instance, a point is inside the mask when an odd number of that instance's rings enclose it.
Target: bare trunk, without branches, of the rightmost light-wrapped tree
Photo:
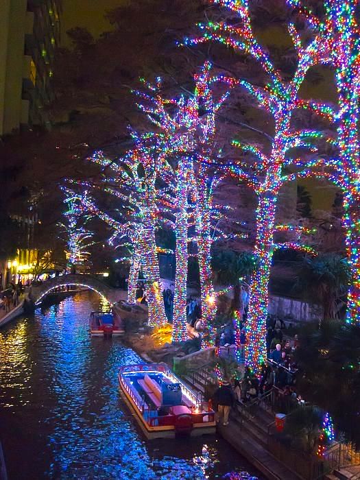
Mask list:
[[[352,272],[346,320],[360,324],[360,36],[358,2],[333,1],[326,5],[332,25],[333,62],[339,94],[338,143],[341,171],[346,178],[344,227],[346,250]]]

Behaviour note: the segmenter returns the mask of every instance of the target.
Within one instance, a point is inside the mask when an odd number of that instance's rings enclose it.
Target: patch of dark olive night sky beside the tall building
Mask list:
[[[126,0],[63,0],[62,43],[67,45],[66,31],[71,27],[86,27],[95,37],[112,29],[104,19],[104,14],[106,10],[111,10],[124,1]]]

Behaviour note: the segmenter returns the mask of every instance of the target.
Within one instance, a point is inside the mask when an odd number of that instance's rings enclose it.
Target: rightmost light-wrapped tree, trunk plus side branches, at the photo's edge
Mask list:
[[[333,113],[337,123],[338,155],[324,162],[320,172],[314,175],[328,176],[344,192],[343,224],[346,230],[346,250],[352,271],[348,293],[347,322],[360,322],[360,145],[359,145],[359,97],[360,97],[360,36],[357,0],[324,1],[324,17],[320,18],[306,8],[302,0],[287,0],[289,5],[307,26],[331,44],[329,64],[335,69],[339,112]],[[328,108],[331,111],[331,108]],[[311,176],[311,171],[306,172]]]

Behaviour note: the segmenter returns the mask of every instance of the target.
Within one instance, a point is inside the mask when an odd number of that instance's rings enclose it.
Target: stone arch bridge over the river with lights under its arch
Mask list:
[[[126,291],[109,287],[95,276],[88,274],[69,274],[50,278],[50,280],[46,280],[38,286],[32,285],[27,300],[32,302],[32,304],[38,305],[53,289],[66,285],[76,285],[77,287],[86,287],[96,291],[99,293],[99,296],[104,297],[111,304],[128,298]]]

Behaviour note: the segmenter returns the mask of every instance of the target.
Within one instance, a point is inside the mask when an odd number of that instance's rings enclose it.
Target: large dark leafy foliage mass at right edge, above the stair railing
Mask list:
[[[297,391],[332,416],[337,431],[360,447],[360,327],[340,322],[300,333]]]

